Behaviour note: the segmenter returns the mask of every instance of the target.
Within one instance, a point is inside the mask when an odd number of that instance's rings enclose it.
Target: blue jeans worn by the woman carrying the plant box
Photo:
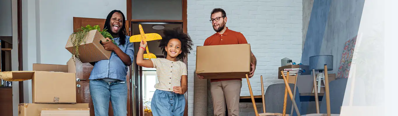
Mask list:
[[[112,103],[113,116],[127,115],[126,81],[90,80],[90,94],[93,99],[95,116],[108,116],[109,100]]]

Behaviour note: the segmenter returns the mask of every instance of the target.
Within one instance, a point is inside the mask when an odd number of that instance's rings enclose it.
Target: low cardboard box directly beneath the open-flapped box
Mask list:
[[[88,103],[75,103],[75,104],[21,103],[18,106],[18,116],[40,116],[43,108],[89,108],[89,107]]]

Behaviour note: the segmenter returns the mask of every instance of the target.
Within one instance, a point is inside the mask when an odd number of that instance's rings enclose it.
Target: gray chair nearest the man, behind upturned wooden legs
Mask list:
[[[289,84],[290,89],[294,90],[295,84]],[[289,94],[289,93],[288,93]],[[265,91],[265,110],[266,112],[272,113],[282,113],[283,112],[283,98],[285,97],[285,84],[272,84],[267,87],[267,91]],[[301,112],[301,103],[300,103],[300,95],[298,92],[298,87],[296,87],[296,95],[295,101],[298,107],[299,112]],[[290,95],[287,95],[287,106],[286,106],[286,114],[290,114],[292,108],[292,101]],[[293,109],[293,115],[297,116],[296,110]]]

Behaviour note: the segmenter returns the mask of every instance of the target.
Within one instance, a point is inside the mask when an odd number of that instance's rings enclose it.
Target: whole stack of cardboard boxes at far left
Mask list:
[[[33,64],[33,72],[13,72],[13,79],[32,80],[32,103],[21,103],[18,115],[90,116],[88,103],[76,103],[76,74],[70,67],[75,66]]]

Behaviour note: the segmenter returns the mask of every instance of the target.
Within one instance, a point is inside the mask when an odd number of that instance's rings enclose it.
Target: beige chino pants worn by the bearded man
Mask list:
[[[228,116],[239,116],[239,97],[242,81],[226,80],[211,82],[210,84],[214,116],[225,116],[225,108],[228,109]]]

